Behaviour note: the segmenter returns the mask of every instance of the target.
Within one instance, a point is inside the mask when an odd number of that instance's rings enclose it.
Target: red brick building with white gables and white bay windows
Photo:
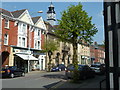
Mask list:
[[[2,66],[24,67],[26,71],[44,69],[45,55],[40,51],[41,34],[46,26],[42,17],[32,18],[27,9],[13,12],[0,9],[0,13]]]

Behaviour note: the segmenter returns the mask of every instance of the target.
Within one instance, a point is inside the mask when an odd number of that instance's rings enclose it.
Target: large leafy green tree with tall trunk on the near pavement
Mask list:
[[[92,24],[92,17],[82,9],[82,4],[71,5],[62,13],[61,20],[58,20],[58,28],[55,33],[62,41],[68,41],[73,45],[73,65],[75,67],[73,81],[77,81],[78,60],[77,60],[77,44],[82,41],[91,43],[92,37],[97,33],[95,24]]]

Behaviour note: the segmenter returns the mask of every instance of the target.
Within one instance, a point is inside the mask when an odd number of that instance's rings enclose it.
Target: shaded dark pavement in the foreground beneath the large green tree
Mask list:
[[[51,87],[53,90],[100,90],[100,81],[105,77],[97,76],[94,79],[81,80],[79,83],[72,83],[71,80],[61,80],[58,84]],[[102,83],[102,89],[105,90],[105,81]]]

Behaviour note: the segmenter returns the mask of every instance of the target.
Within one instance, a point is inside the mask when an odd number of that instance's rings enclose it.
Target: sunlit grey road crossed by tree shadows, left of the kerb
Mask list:
[[[50,88],[64,78],[64,72],[32,72],[25,77],[2,79],[2,88]]]

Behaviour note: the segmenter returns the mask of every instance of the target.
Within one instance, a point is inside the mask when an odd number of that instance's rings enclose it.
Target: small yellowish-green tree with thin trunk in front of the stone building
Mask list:
[[[52,68],[52,64],[51,64],[52,58],[51,58],[51,56],[53,54],[53,51],[55,51],[57,49],[58,49],[58,43],[56,41],[51,40],[51,39],[46,40],[44,52],[48,53],[48,57],[49,57],[48,71],[50,71],[50,69]]]

